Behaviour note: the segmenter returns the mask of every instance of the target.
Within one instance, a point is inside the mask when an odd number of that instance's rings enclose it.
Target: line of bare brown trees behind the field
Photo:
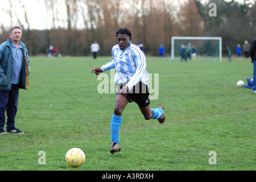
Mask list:
[[[158,55],[159,44],[167,53],[171,49],[172,36],[221,36],[225,47],[235,49],[244,40],[249,42],[256,32],[256,3],[209,0],[41,0],[47,11],[50,28],[31,28],[26,6],[18,1],[23,11],[23,21],[11,13],[13,1],[9,3],[10,25],[1,23],[1,43],[6,41],[10,27],[23,29],[24,43],[30,55],[45,54],[49,46],[56,46],[58,52],[70,56],[90,55],[90,44],[97,40],[101,55],[111,55],[111,48],[117,43],[115,32],[127,27],[133,34],[132,43],[142,42],[148,55]],[[216,16],[209,16],[209,4],[216,5]],[[64,15],[63,15],[64,12]],[[14,19],[18,19],[14,24]],[[212,44],[201,43],[201,54],[207,54]]]

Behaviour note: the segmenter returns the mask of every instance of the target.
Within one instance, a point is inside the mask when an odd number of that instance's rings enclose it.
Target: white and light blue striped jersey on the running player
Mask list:
[[[127,82],[129,90],[137,85],[139,81],[147,85],[148,73],[146,71],[146,57],[141,49],[135,44],[129,45],[121,50],[116,44],[112,48],[113,60],[102,65],[102,72],[115,68],[114,81],[116,84],[124,84]]]

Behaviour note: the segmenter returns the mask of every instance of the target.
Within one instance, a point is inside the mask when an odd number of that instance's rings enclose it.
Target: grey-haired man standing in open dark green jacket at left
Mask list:
[[[0,45],[0,134],[6,134],[5,111],[7,113],[7,133],[23,132],[15,127],[18,109],[19,89],[29,89],[30,58],[26,45],[20,41],[20,27],[10,30],[10,38]]]

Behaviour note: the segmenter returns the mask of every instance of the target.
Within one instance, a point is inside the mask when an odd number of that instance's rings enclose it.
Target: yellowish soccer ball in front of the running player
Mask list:
[[[71,167],[80,167],[85,162],[84,152],[80,148],[71,148],[66,154],[66,163]]]

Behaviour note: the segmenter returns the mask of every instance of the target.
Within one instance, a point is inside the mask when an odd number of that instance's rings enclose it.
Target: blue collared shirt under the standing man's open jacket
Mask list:
[[[19,43],[17,48],[13,42],[11,42],[11,52],[13,54],[13,64],[11,69],[11,83],[19,84],[20,71],[22,69],[22,44]]]

